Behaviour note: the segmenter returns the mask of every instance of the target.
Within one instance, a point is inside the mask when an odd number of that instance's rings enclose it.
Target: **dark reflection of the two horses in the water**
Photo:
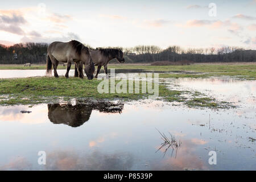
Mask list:
[[[48,118],[52,123],[78,127],[89,120],[92,110],[103,113],[121,113],[122,103],[97,102],[86,104],[48,104]]]

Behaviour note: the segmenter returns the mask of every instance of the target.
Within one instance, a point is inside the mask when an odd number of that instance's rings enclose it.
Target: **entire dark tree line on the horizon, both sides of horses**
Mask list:
[[[89,45],[85,46],[93,49]],[[19,43],[10,47],[0,44],[0,64],[45,64],[47,47],[47,43]],[[229,46],[204,49],[183,49],[179,46],[170,46],[166,49],[158,46],[135,46],[122,49],[126,63],[176,62],[184,60],[195,63],[256,61],[256,50]]]

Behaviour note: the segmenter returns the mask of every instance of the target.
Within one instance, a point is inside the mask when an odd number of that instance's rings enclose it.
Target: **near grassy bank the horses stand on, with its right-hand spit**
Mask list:
[[[110,79],[109,79],[110,81]],[[0,105],[26,104],[34,105],[41,103],[57,103],[60,100],[70,100],[77,98],[80,100],[92,98],[96,100],[116,100],[124,101],[139,100],[147,98],[148,92],[142,93],[142,84],[139,85],[139,93],[99,93],[97,90],[100,80],[88,80],[81,78],[55,78],[55,77],[30,77],[30,78],[10,78],[0,79]],[[115,81],[115,86],[119,81]],[[133,84],[135,85],[135,84]],[[153,85],[154,86],[154,85]],[[128,87],[128,84],[127,84]],[[110,84],[109,84],[110,90]],[[127,89],[128,90],[128,89]],[[184,93],[189,97],[184,97]],[[191,100],[200,100],[196,105],[191,104]],[[183,103],[191,107],[224,107],[221,102],[212,98],[205,98],[199,93],[193,94],[188,91],[178,91],[167,89],[164,85],[159,85],[158,99]]]

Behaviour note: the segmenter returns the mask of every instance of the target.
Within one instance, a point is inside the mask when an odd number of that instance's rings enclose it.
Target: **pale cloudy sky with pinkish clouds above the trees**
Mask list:
[[[256,49],[256,0],[2,1],[0,44]]]

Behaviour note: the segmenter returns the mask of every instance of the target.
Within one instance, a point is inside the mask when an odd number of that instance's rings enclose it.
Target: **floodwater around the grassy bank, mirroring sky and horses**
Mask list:
[[[30,76],[45,73],[29,71]],[[58,73],[64,75],[65,70]],[[12,74],[28,76],[22,70]],[[255,170],[256,81],[213,77],[161,78],[160,82],[236,107],[75,99],[32,107],[0,106],[0,169]],[[161,148],[159,131],[176,143]],[[38,164],[39,151],[46,151],[46,165]],[[208,162],[210,151],[216,151],[216,165]]]

